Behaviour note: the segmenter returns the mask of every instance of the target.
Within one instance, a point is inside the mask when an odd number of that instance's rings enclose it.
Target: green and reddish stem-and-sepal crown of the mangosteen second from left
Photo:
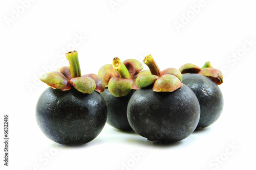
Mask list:
[[[138,89],[135,80],[138,75],[150,74],[150,70],[143,70],[143,65],[135,59],[121,61],[115,57],[112,64],[103,65],[98,75],[103,79],[105,87],[109,88],[116,97],[127,95],[132,89]]]

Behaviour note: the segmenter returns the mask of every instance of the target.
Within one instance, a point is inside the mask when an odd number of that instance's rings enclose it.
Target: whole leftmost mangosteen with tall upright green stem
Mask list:
[[[70,67],[60,67],[40,78],[50,87],[37,101],[36,121],[49,139],[79,145],[97,137],[106,123],[106,103],[99,93],[105,85],[96,74],[81,76],[76,51],[66,57]]]

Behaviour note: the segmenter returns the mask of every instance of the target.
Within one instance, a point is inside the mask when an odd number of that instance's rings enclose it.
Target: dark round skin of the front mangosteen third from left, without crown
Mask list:
[[[197,127],[200,106],[186,85],[173,92],[138,89],[130,99],[127,117],[133,130],[148,140],[174,142],[188,137]]]

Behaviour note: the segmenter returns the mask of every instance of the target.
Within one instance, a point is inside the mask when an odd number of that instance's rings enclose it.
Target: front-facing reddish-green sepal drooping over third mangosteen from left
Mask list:
[[[183,83],[173,75],[163,75],[158,78],[153,86],[153,91],[156,92],[172,92],[182,87]]]

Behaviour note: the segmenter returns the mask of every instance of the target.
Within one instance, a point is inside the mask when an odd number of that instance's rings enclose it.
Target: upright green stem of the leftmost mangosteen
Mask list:
[[[71,73],[71,79],[75,77],[81,77],[81,70],[80,70],[77,51],[68,52],[65,55],[69,60],[69,69]]]

